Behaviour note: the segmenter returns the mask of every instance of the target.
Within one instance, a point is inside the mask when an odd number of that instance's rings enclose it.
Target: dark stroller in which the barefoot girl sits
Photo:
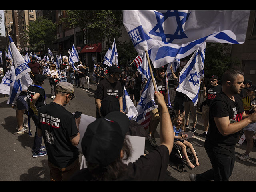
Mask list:
[[[172,108],[169,108],[169,107],[168,107],[168,111],[169,111],[172,122],[174,122],[174,119],[177,116],[176,113]],[[189,140],[187,141],[189,142]],[[194,161],[194,155],[190,152],[187,152],[187,154],[191,163],[195,164],[196,162]],[[179,172],[183,172],[183,169],[185,168],[185,164],[186,164],[186,159],[184,158],[184,155],[182,153],[182,148],[175,143],[173,144],[172,152],[170,154],[170,161],[174,162],[177,165],[177,169]]]

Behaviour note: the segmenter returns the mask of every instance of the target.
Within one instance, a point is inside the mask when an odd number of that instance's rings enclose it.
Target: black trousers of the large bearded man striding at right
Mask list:
[[[226,155],[214,152],[204,144],[212,169],[196,175],[196,181],[228,181],[234,168],[235,154]]]

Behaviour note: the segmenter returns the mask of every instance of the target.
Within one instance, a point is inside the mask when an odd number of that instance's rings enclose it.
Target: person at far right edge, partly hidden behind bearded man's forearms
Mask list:
[[[252,114],[256,111],[256,86],[251,85],[249,87],[245,87],[247,95],[251,98],[250,109],[246,110],[246,114]],[[240,160],[246,161],[249,160],[249,153],[253,148],[253,134],[256,130],[256,123],[250,123],[248,126],[244,127],[244,136],[246,139],[246,151],[242,156],[239,157]]]

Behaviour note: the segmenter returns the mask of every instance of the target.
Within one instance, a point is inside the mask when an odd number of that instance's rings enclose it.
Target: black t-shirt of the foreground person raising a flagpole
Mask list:
[[[169,162],[168,148],[157,146],[147,155],[140,156],[138,160],[129,163],[128,171],[115,181],[163,181]],[[76,172],[71,181],[92,181],[88,168]]]

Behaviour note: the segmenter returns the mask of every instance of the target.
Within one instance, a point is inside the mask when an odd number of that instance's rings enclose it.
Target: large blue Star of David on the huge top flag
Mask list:
[[[155,14],[156,14],[157,24],[149,32],[149,34],[161,37],[162,41],[166,44],[167,43],[172,43],[172,41],[174,39],[188,38],[186,36],[186,34],[184,33],[184,31],[183,31],[182,25],[188,20],[188,17],[190,15],[190,13],[187,14],[187,13],[184,13],[184,12],[178,12],[176,10],[171,12],[170,10],[168,10],[166,13],[155,12]],[[177,29],[174,32],[174,34],[164,33],[163,23],[169,17],[175,17],[176,21],[177,21]],[[180,20],[180,17],[183,17],[183,18]],[[168,27],[168,26],[165,26],[165,27]],[[157,32],[157,31],[159,31],[159,32]],[[169,39],[168,41],[166,40],[167,38]]]

